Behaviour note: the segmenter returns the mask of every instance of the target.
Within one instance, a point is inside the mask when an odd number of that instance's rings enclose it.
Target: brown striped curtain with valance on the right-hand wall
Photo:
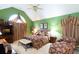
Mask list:
[[[72,37],[79,41],[79,18],[74,16],[68,16],[62,19],[61,26],[63,30],[63,36]]]

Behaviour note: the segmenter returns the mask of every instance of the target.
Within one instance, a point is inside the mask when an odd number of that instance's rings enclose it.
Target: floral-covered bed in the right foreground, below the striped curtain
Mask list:
[[[60,41],[52,43],[49,48],[51,54],[72,54],[74,53],[76,40],[74,38],[63,38]]]

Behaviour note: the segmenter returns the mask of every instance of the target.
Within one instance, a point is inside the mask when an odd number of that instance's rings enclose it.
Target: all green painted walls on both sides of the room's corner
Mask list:
[[[61,24],[60,21],[61,19],[67,17],[68,15],[72,15],[72,16],[79,16],[79,12],[76,13],[72,13],[72,14],[67,14],[67,15],[62,15],[62,16],[57,16],[57,17],[51,17],[51,18],[45,18],[42,20],[38,20],[38,21],[31,21],[31,19],[27,16],[27,14],[25,14],[24,11],[16,9],[14,7],[10,7],[10,8],[6,8],[6,9],[1,9],[0,10],[0,19],[4,19],[5,21],[7,21],[9,19],[9,17],[13,14],[18,14],[18,12],[21,14],[21,16],[23,16],[27,22],[27,34],[31,34],[32,31],[32,27],[40,27],[40,23],[48,23],[48,29],[54,29],[56,28],[56,31],[61,33]]]

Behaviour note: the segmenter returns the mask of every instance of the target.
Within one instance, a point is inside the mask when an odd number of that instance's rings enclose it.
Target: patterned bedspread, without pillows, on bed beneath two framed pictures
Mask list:
[[[42,36],[42,35],[31,35],[24,37],[27,40],[32,41],[32,46],[36,49],[41,48],[45,44],[49,43],[49,37],[48,36]]]

